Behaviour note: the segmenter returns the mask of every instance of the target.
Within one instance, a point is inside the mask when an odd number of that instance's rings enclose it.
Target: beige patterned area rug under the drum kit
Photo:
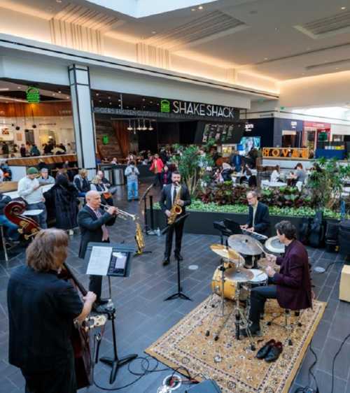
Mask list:
[[[174,369],[185,366],[197,380],[212,378],[224,393],[287,393],[293,383],[307,346],[325,310],[325,304],[314,301],[313,310],[305,310],[300,316],[302,326],[295,324],[291,335],[293,345],[288,345],[288,331],[283,328],[285,316],[275,300],[267,301],[263,336],[254,337],[257,350],[271,338],[283,343],[279,359],[268,364],[255,358],[248,338],[235,339],[235,315],[230,315],[228,324],[221,331],[218,341],[214,334],[220,329],[222,320],[218,316],[221,299],[209,296],[195,310],[184,317],[172,329],[147,348],[146,353]],[[211,306],[215,303],[216,308]],[[226,301],[225,314],[233,309]],[[211,325],[211,320],[214,323]],[[270,326],[267,321],[274,320]],[[211,326],[211,327],[210,327]],[[209,337],[205,335],[210,329]]]

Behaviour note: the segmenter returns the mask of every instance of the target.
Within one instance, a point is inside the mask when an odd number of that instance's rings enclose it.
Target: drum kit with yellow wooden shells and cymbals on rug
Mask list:
[[[276,236],[272,239],[275,239]],[[278,238],[277,238],[278,240]],[[267,239],[269,241],[269,239]],[[276,240],[274,241],[276,243]],[[274,244],[273,252],[276,252],[276,244]],[[221,296],[221,302],[218,313],[212,316],[212,326],[217,317],[222,319],[218,331],[214,333],[214,341],[218,341],[221,331],[228,324],[232,313],[235,314],[235,338],[239,340],[241,329],[246,330],[246,334],[251,342],[251,350],[255,350],[253,339],[251,337],[248,315],[250,309],[250,295],[254,287],[267,285],[268,276],[265,270],[267,266],[272,266],[266,258],[261,258],[258,263],[253,266],[256,269],[246,269],[245,259],[243,255],[257,257],[262,253],[266,253],[262,244],[255,238],[248,235],[232,235],[228,238],[228,246],[221,244],[212,244],[211,250],[221,257],[221,265],[216,268],[213,279],[211,281],[211,290],[213,292],[209,303],[214,308],[218,304],[213,302],[214,295]],[[270,249],[269,249],[270,250]],[[279,253],[284,252],[280,247]],[[261,263],[260,263],[261,262]],[[277,270],[279,266],[272,266]],[[230,313],[225,313],[225,301],[233,301],[234,307]],[[205,333],[210,336],[210,329]]]

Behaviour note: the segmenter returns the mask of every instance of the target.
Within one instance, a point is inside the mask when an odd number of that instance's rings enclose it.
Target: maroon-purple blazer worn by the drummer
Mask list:
[[[304,245],[292,241],[276,264],[281,265],[279,273],[274,274],[279,305],[290,310],[312,307],[309,258]]]

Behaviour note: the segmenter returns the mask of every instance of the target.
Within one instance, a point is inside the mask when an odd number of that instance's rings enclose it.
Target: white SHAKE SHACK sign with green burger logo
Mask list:
[[[195,117],[221,117],[228,120],[238,120],[238,110],[231,106],[214,105],[190,101],[160,101],[160,112],[176,115],[192,115]]]

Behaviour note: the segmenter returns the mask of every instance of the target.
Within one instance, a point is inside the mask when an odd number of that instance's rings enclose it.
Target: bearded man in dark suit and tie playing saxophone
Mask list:
[[[167,222],[169,217],[172,218],[176,213],[174,213],[175,208],[181,208],[181,213],[177,215],[177,219],[186,213],[186,206],[190,206],[191,197],[188,192],[186,185],[181,185],[181,175],[179,171],[174,171],[172,173],[172,183],[165,185],[162,190],[162,195],[160,197],[160,208],[162,212],[165,213]],[[179,209],[180,210],[180,209]],[[181,256],[181,241],[183,234],[183,220],[174,225],[170,225],[167,231],[167,237],[165,238],[165,253],[163,266],[166,266],[170,262],[170,255],[172,253],[172,240],[175,231],[175,257],[179,261],[183,260]]]

